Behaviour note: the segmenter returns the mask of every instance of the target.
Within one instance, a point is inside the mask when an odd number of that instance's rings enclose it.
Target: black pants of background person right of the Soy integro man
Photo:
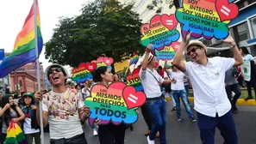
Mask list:
[[[235,93],[234,94],[234,98],[231,100],[232,98],[232,91]],[[230,85],[226,87],[226,93],[228,95],[228,99],[232,105],[232,109],[236,109],[235,103],[237,101],[237,99],[239,99],[240,97],[240,87],[238,85],[238,83],[234,84],[234,85]]]

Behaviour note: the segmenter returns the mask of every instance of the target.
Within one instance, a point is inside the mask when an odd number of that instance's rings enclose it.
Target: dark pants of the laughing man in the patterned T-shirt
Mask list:
[[[51,144],[87,144],[84,133],[69,139],[50,140]]]

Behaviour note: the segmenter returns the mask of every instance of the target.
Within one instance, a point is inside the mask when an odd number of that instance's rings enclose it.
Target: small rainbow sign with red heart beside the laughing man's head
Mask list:
[[[85,81],[92,79],[91,71],[96,69],[96,67],[96,63],[80,63],[78,68],[72,69],[72,81],[84,83]]]

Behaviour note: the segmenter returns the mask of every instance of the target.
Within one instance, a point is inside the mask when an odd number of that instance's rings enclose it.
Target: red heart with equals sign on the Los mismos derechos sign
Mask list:
[[[123,90],[123,99],[128,107],[128,110],[134,107],[139,107],[143,105],[146,101],[145,93],[139,91],[136,92],[134,87],[128,86]]]

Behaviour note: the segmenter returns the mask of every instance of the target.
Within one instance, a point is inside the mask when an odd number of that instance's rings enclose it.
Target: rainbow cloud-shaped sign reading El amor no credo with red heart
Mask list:
[[[140,43],[143,46],[153,44],[153,51],[165,48],[165,45],[171,45],[173,41],[179,39],[179,32],[176,30],[178,21],[175,15],[154,15],[150,23],[143,24],[140,27],[142,38]]]

